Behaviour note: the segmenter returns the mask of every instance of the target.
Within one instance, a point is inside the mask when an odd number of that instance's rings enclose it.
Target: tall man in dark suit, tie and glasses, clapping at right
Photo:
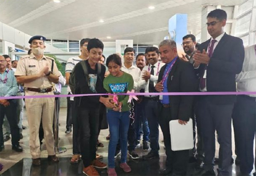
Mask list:
[[[194,56],[194,67],[200,77],[200,91],[236,91],[235,76],[244,60],[244,46],[240,38],[224,32],[226,12],[211,11],[207,16],[207,30],[211,38],[202,43]],[[204,167],[196,175],[215,176],[215,131],[220,144],[219,176],[231,175],[231,115],[235,95],[199,96],[198,121],[204,145]]]

